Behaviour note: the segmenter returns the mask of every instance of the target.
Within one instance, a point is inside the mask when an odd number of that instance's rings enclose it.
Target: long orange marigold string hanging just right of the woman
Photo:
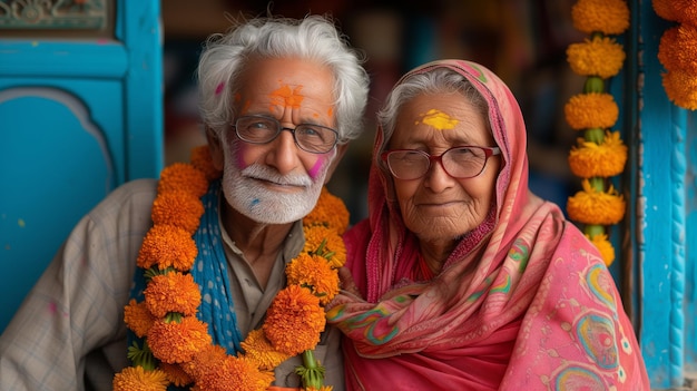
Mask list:
[[[609,266],[615,248],[606,228],[619,223],[626,209],[610,178],[625,169],[627,146],[619,131],[609,130],[617,123],[619,107],[606,91],[606,80],[616,76],[625,61],[622,46],[610,36],[629,28],[629,9],[624,0],[579,0],[571,9],[571,20],[589,38],[567,48],[571,70],[586,77],[582,94],[565,106],[567,123],[582,133],[569,153],[569,166],[582,178],[582,189],[569,197],[567,212],[572,221],[583,224],[583,233]]]

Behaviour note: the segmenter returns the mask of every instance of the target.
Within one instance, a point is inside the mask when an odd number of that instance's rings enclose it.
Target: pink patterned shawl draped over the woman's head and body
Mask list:
[[[345,235],[363,300],[340,294],[347,390],[649,390],[612,277],[560,208],[528,189],[526,126],[484,67],[441,60],[482,94],[503,165],[489,224],[465,235],[428,283],[409,281],[415,238],[373,162],[370,217]],[[382,141],[377,131],[375,148]]]

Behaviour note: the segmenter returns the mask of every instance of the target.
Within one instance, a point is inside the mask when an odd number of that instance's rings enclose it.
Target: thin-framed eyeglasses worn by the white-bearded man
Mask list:
[[[293,134],[295,144],[312,154],[326,154],[338,140],[338,133],[321,125],[301,124],[295,129],[281,126],[276,118],[266,116],[243,116],[233,125],[237,137],[249,144],[266,144],[274,140],[282,130]]]

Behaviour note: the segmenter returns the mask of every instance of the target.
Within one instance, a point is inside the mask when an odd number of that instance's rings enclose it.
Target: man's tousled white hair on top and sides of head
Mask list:
[[[256,18],[226,33],[210,36],[198,63],[200,115],[206,127],[220,135],[235,117],[233,97],[239,75],[253,58],[306,58],[327,66],[334,75],[338,143],[363,131],[370,79],[364,58],[351,48],[334,22],[324,16],[303,19]],[[225,88],[222,88],[224,86]]]

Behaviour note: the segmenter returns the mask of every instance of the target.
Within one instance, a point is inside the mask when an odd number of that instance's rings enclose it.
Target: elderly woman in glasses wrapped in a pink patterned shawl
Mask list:
[[[357,292],[328,312],[347,390],[649,390],[598,251],[528,188],[526,126],[495,75],[424,65],[379,120],[370,217],[345,236]]]

